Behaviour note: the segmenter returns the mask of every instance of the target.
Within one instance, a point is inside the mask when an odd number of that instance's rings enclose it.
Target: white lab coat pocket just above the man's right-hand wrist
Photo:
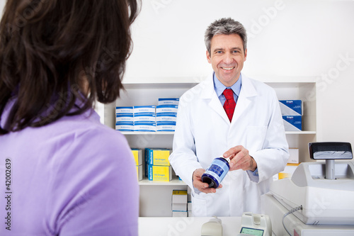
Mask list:
[[[248,126],[246,130],[246,149],[251,152],[263,147],[267,126]]]

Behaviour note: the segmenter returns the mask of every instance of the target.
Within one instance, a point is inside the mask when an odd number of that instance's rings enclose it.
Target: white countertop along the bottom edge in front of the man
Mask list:
[[[212,217],[140,217],[139,236],[198,236]],[[234,236],[241,230],[241,217],[219,217],[222,235]]]

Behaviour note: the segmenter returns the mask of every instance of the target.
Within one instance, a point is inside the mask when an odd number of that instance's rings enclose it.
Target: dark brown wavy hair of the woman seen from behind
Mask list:
[[[137,1],[8,0],[0,23],[0,118],[13,106],[0,135],[115,101]]]

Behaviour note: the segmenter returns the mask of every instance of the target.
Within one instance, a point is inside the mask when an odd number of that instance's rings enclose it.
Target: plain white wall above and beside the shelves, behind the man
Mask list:
[[[205,77],[205,28],[231,16],[249,33],[244,73],[316,77],[317,141],[354,145],[354,1],[142,1],[125,82]]]

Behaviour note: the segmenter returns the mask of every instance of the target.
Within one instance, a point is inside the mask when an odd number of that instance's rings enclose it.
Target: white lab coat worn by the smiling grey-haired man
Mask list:
[[[169,160],[176,174],[192,189],[194,216],[261,213],[261,194],[268,191],[273,175],[287,163],[289,150],[275,91],[244,74],[241,78],[231,123],[217,97],[212,76],[181,96]],[[195,169],[207,169],[213,159],[236,145],[243,145],[257,162],[258,182],[239,169],[228,172],[216,193],[194,189]]]

